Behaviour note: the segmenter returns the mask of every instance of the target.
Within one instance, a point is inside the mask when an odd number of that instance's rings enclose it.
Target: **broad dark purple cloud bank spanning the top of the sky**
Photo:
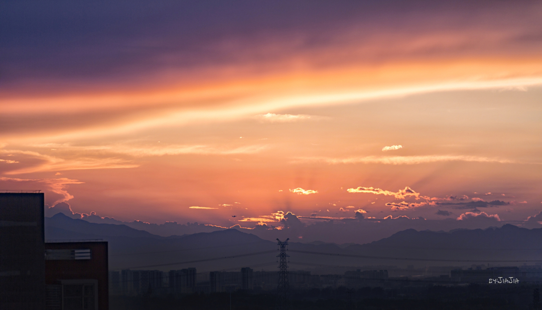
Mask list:
[[[518,15],[524,16],[522,23],[532,25],[535,4],[511,7],[505,2],[492,3],[493,15],[486,16],[481,12],[486,12],[487,4],[482,3],[2,1],[0,88],[8,91],[14,83],[33,79],[99,78],[107,85],[104,80],[113,81],[119,75],[138,76],[159,67],[231,64],[247,58],[259,61],[276,55],[246,48],[247,41],[299,38],[279,53],[292,54],[296,50],[325,48],[336,43],[336,33],[352,28],[364,30],[357,31],[357,40],[380,29],[384,33],[397,29],[419,31],[431,22],[424,16],[461,16],[461,24],[456,24],[454,18],[443,19],[440,27],[451,29],[488,27],[488,22],[495,28],[507,29],[507,23],[518,23],[518,18],[513,18]],[[500,15],[508,18],[498,18]],[[517,37],[521,38],[518,44],[528,44],[538,42],[539,33],[523,31]],[[244,48],[231,48],[236,45]],[[433,46],[431,49],[433,53],[449,52]],[[386,56],[380,54],[373,57]]]

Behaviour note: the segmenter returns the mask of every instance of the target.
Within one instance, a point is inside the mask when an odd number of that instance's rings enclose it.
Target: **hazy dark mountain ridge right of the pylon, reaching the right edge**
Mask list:
[[[435,264],[469,266],[483,263],[474,260],[542,262],[542,229],[519,228],[511,224],[503,225],[501,228],[459,229],[450,232],[407,229],[379,241],[346,247],[345,251],[371,256],[435,260],[410,261],[409,264],[415,266]],[[459,262],[465,260],[473,262]],[[401,262],[401,260],[386,261]],[[489,262],[489,264],[505,266],[523,263]]]

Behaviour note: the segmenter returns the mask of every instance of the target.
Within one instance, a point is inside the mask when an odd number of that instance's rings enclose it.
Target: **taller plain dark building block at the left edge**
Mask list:
[[[43,193],[0,193],[0,309],[44,309]]]

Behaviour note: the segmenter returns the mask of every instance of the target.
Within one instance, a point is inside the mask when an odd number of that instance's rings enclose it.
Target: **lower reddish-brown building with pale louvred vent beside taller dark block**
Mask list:
[[[45,254],[47,310],[109,308],[107,242],[46,243]]]

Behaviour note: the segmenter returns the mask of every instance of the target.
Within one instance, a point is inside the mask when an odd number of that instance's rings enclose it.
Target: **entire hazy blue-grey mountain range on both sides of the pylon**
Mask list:
[[[276,242],[262,240],[236,229],[199,232],[192,235],[162,237],[126,225],[88,223],[63,214],[46,218],[46,238],[96,239],[109,242],[109,267],[170,270],[196,267],[198,270],[221,270],[269,263],[267,270],[276,270]],[[443,231],[399,231],[388,238],[367,244],[334,244],[324,242],[289,243],[292,268],[324,268],[342,273],[363,266],[466,266],[482,264],[476,260],[540,260],[542,262],[542,229],[501,228]],[[314,253],[340,255],[319,255]],[[240,256],[203,262],[215,257],[272,251],[266,254]],[[364,257],[352,257],[352,256]],[[379,257],[371,258],[367,256]],[[460,262],[462,261],[462,262]],[[466,262],[468,261],[468,262]],[[178,264],[172,264],[178,263]],[[302,263],[302,264],[298,264]],[[521,262],[491,263],[511,266]],[[534,263],[528,263],[534,264]],[[327,265],[349,266],[330,269]],[[323,267],[320,267],[323,266]],[[257,270],[260,267],[257,267]],[[334,271],[333,271],[334,270]]]

